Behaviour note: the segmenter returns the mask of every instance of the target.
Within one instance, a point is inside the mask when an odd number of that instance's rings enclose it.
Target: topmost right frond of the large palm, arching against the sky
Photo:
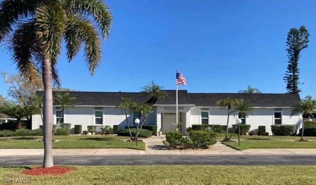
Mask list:
[[[112,15],[110,8],[103,0],[69,0],[65,4],[64,9],[68,14],[82,13],[92,16],[97,23],[103,39],[109,37],[112,24]]]

